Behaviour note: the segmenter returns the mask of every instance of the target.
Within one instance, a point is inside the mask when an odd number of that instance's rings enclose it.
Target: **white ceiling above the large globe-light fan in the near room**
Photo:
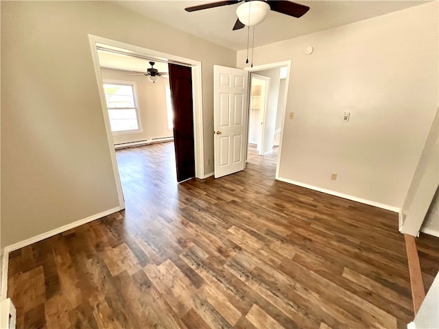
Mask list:
[[[247,28],[232,31],[239,4],[198,12],[184,8],[213,1],[112,1],[121,7],[234,50],[247,47]],[[331,29],[428,1],[296,1],[311,9],[300,19],[270,11],[255,27],[254,47]]]

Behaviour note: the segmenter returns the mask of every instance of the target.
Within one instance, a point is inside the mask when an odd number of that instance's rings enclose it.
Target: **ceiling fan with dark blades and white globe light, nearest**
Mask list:
[[[195,12],[197,10],[204,10],[209,8],[221,7],[223,5],[234,5],[235,3],[241,3],[236,10],[238,19],[233,26],[233,30],[242,29],[244,26],[252,26],[261,23],[265,16],[267,16],[270,10],[280,12],[288,16],[299,18],[303,16],[308,10],[307,5],[301,5],[292,1],[281,0],[227,0],[217,1],[212,3],[205,3],[204,5],[194,5],[187,7],[187,12]]]

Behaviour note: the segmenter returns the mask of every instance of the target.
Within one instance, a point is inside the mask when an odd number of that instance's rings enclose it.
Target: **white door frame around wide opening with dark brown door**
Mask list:
[[[99,57],[97,55],[97,44],[105,45],[108,49],[122,50],[124,53],[132,54],[133,56],[141,56],[150,60],[157,60],[159,62],[170,62],[190,66],[192,69],[192,103],[193,103],[193,143],[195,148],[195,177],[204,178],[204,147],[203,147],[203,117],[202,117],[202,82],[201,82],[201,62],[198,60],[191,60],[189,58],[182,58],[180,56],[155,51],[128,43],[102,38],[88,34],[90,42],[91,56],[95,66],[95,75],[97,88],[99,90],[99,97],[102,103],[102,113],[104,114],[105,130],[108,140],[108,148],[110,150],[110,157],[112,162],[112,169],[115,175],[115,182],[117,188],[117,195],[119,198],[119,205],[121,209],[125,208],[123,200],[123,191],[121,178],[119,175],[119,167],[117,167],[115,145],[112,139],[112,132],[110,127],[110,119],[106,109],[106,100],[104,94],[104,86],[102,86],[101,68],[99,66]]]

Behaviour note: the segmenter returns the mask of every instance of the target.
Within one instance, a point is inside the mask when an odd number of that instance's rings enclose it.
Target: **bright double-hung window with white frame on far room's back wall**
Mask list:
[[[104,83],[108,117],[112,132],[141,131],[134,82]]]

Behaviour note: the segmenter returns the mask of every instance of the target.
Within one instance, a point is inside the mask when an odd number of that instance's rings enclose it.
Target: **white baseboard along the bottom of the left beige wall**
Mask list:
[[[5,250],[3,252],[3,262],[1,264],[2,271],[1,271],[1,300],[4,300],[8,294],[8,265],[9,265],[9,253],[13,252],[16,249],[21,249],[23,247],[27,247],[28,245],[32,245],[32,243],[36,243],[38,241],[42,241],[44,239],[50,238],[51,236],[54,236],[56,234],[66,232],[68,230],[71,230],[72,228],[77,228],[78,226],[81,226],[82,224],[89,223],[91,221],[94,221],[96,219],[114,214],[115,212],[122,210],[120,206],[117,206],[116,208],[108,209],[103,212],[99,212],[99,214],[91,215],[89,217],[86,217],[84,219],[80,219],[79,221],[74,221],[73,223],[69,223],[67,225],[61,226],[60,228],[55,228],[54,230],[50,230],[49,232],[45,232],[42,234],[38,234],[37,236],[34,236],[32,238],[14,243],[13,245],[7,245],[5,247]]]

